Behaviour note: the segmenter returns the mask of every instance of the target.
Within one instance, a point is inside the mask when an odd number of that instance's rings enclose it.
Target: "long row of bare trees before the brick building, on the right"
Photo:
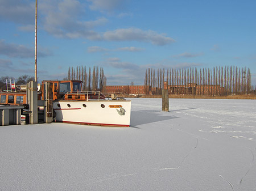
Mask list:
[[[146,69],[144,86],[146,94],[161,94],[163,82],[169,84],[170,94],[230,95],[249,94],[250,69],[237,66],[216,66],[197,69]]]

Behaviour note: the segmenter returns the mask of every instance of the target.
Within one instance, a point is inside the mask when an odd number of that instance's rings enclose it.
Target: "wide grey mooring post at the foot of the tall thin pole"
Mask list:
[[[30,124],[38,124],[38,83],[27,83],[27,103],[30,105]]]

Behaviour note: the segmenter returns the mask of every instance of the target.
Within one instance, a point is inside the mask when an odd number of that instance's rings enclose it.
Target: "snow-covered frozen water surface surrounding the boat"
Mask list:
[[[256,190],[255,100],[132,99],[131,127],[0,126],[0,190]]]

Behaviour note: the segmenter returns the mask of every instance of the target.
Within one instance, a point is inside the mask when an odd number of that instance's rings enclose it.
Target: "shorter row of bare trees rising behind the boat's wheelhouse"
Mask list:
[[[87,72],[86,66],[69,67],[68,80],[81,80],[84,84],[84,91],[103,91],[106,86],[106,77],[104,75],[103,67],[93,66],[89,67]]]

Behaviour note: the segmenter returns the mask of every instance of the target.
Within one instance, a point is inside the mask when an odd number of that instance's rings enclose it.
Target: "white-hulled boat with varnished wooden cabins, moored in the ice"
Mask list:
[[[97,126],[130,126],[131,100],[106,98],[100,91],[82,91],[80,80],[43,80],[38,99],[46,100],[52,84],[53,121]],[[26,91],[0,92],[0,104],[27,105]],[[28,108],[28,107],[27,107]],[[39,106],[38,111],[44,107]]]

